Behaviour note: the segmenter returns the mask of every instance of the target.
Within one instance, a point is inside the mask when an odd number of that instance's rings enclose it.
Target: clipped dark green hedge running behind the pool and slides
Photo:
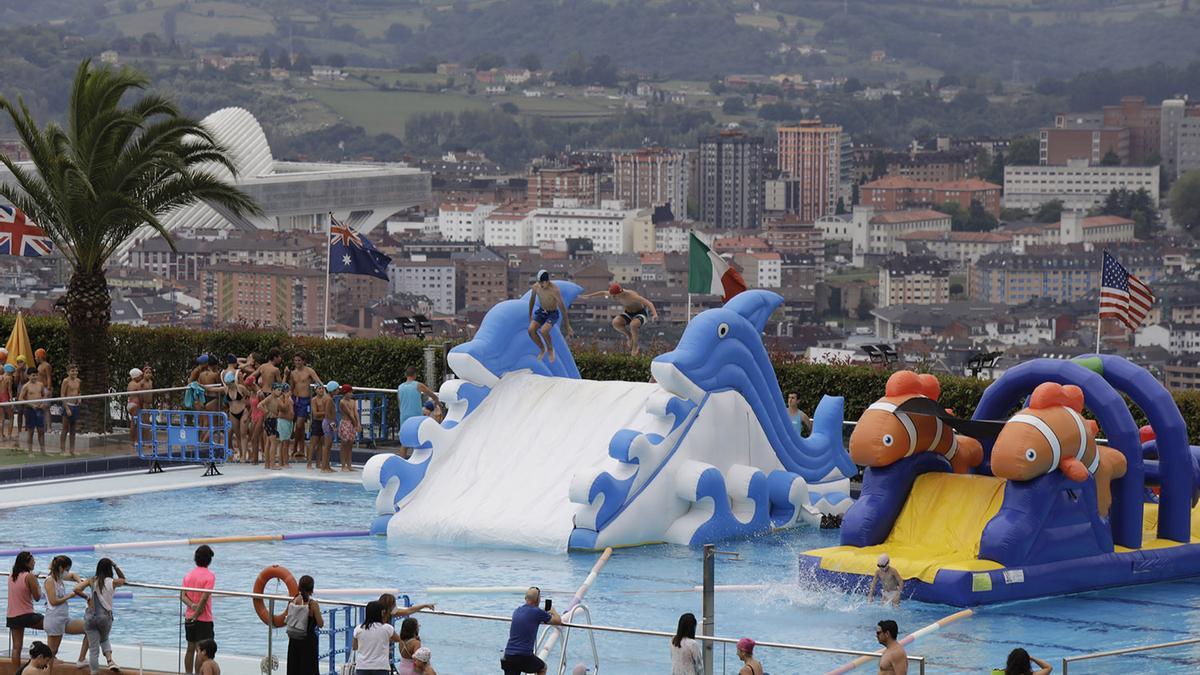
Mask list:
[[[0,315],[0,339],[7,340],[14,315]],[[34,348],[44,347],[58,372],[67,360],[66,329],[56,317],[28,317],[29,338]],[[427,342],[398,338],[337,339],[293,338],[271,330],[192,330],[185,328],[133,328],[114,325],[110,330],[110,374],[114,388],[125,388],[125,374],[133,366],[154,366],[155,384],[179,386],[196,363],[196,356],[211,353],[265,354],[278,348],[290,359],[296,351],[308,353],[310,364],[325,378],[358,387],[392,388],[403,380],[404,369],[416,366],[424,372]],[[823,394],[846,399],[846,419],[857,419],[863,410],[883,395],[888,372],[860,365],[816,365],[785,354],[773,354],[781,395],[796,392],[800,407],[811,412]],[[648,382],[650,357],[631,357],[584,350],[575,353],[580,374],[588,380],[624,380]],[[86,364],[80,364],[86,368]],[[439,374],[440,376],[440,374]],[[938,375],[941,401],[960,417],[970,417],[988,387],[972,377]],[[1174,392],[1175,401],[1188,423],[1192,443],[1200,444],[1200,392]],[[1146,417],[1132,407],[1138,424]]]

